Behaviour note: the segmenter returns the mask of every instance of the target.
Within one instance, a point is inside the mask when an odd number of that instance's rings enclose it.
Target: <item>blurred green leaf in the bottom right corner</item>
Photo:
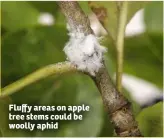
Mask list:
[[[137,117],[145,137],[163,137],[163,104],[144,109]]]

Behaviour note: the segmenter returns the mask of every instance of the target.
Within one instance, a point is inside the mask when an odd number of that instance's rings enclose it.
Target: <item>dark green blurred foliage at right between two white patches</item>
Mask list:
[[[162,42],[163,36],[160,33],[158,35],[144,33],[140,36],[126,38],[124,50],[124,72],[148,80],[162,88]],[[105,44],[110,46],[108,48],[109,53],[112,54],[111,59],[116,64],[114,46],[109,42]]]

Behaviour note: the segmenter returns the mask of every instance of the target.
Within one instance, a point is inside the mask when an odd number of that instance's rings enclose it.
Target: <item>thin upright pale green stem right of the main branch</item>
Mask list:
[[[117,2],[118,3],[118,2]],[[119,92],[122,90],[122,73],[123,73],[123,54],[124,54],[124,33],[128,13],[128,1],[119,4],[119,19],[118,19],[118,32],[116,40],[117,50],[117,72],[116,72],[116,86]]]

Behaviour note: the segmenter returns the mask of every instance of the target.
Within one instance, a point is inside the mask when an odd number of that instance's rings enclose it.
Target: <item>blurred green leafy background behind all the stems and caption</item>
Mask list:
[[[91,12],[87,2],[79,2]],[[110,2],[109,2],[110,4]],[[149,2],[145,6],[146,32],[125,38],[124,72],[145,79],[163,88],[163,3]],[[55,24],[38,22],[41,13],[53,15]],[[19,78],[48,64],[66,59],[63,50],[68,41],[66,21],[56,2],[1,2],[1,84],[5,87]],[[116,52],[107,36],[106,65],[113,77]],[[125,93],[127,93],[125,91]],[[140,110],[130,96],[133,111],[144,136],[163,135],[162,103]],[[22,131],[8,129],[8,104],[44,105],[87,104],[91,111],[80,122],[65,121],[55,131]],[[112,137],[114,129],[103,107],[101,96],[93,81],[82,74],[52,76],[0,99],[0,136],[3,137]]]

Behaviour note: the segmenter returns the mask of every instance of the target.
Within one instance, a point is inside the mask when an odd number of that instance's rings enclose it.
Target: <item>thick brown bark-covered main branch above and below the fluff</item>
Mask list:
[[[81,26],[81,32],[85,35],[93,34],[87,16],[81,10],[78,2],[73,1],[59,1],[63,14],[68,23],[74,30]],[[95,77],[90,77],[96,83],[104,105],[108,111],[109,117],[115,127],[118,136],[141,136],[138,129],[137,122],[132,114],[129,102],[117,91],[108,75],[107,69],[104,67],[99,70]]]

